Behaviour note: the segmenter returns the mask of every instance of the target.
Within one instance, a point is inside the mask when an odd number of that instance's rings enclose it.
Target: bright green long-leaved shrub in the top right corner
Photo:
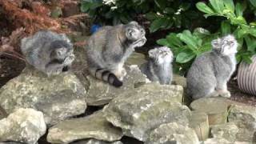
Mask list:
[[[256,1],[250,0],[251,6],[256,6]],[[204,16],[219,16],[226,18],[221,23],[222,35],[233,33],[240,44],[237,59],[250,63],[251,56],[256,54],[256,28],[255,22],[247,22],[243,17],[247,7],[247,2],[237,2],[233,0],[210,0],[206,5],[204,2],[197,3],[198,10],[206,13]]]

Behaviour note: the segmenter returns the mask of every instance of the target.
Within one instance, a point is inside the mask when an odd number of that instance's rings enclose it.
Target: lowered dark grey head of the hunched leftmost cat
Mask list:
[[[73,46],[66,42],[66,41],[61,41],[57,40],[54,42],[50,43],[50,58],[52,59],[64,59],[70,54],[73,54]]]

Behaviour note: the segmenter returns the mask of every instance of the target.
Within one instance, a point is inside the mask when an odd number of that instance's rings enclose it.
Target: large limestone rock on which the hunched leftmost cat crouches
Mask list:
[[[34,108],[44,114],[47,124],[54,124],[86,110],[86,90],[72,73],[46,77],[27,67],[0,90],[0,106],[8,114],[18,108]]]

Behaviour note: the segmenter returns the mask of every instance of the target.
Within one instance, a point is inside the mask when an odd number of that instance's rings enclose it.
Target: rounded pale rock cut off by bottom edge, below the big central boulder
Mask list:
[[[162,124],[150,132],[146,144],[199,144],[198,136],[188,126],[182,126],[176,122]]]

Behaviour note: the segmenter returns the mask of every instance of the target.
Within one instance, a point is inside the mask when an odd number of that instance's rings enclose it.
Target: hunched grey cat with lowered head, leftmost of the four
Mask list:
[[[73,45],[65,34],[41,30],[22,38],[22,54],[26,62],[48,76],[70,69],[74,61]]]

